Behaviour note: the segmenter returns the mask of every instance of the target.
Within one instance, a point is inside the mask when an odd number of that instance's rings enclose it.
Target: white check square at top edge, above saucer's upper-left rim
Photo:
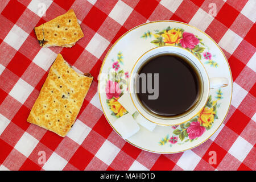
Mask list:
[[[112,11],[109,14],[109,17],[113,18],[116,22],[123,25],[126,19],[130,16],[133,9],[126,5],[126,3],[122,1],[118,1]]]

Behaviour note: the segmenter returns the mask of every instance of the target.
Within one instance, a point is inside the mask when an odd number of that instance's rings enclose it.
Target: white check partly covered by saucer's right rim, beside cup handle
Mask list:
[[[245,98],[247,93],[248,92],[245,89],[243,89],[240,85],[234,82],[231,104],[237,108],[241,104],[243,98]]]

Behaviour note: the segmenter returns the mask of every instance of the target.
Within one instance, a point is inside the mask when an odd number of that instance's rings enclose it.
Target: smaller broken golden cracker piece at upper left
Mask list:
[[[40,46],[72,47],[84,37],[73,10],[34,28]]]

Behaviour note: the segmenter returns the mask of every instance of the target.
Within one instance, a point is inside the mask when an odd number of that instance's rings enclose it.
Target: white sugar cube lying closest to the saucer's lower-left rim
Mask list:
[[[140,129],[138,123],[134,120],[130,113],[123,115],[115,120],[112,124],[115,130],[122,136],[123,139],[130,138]]]

